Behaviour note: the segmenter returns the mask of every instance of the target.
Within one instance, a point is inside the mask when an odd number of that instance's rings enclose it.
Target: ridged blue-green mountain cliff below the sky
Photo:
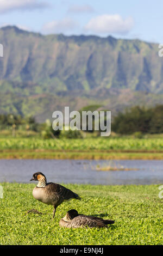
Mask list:
[[[1,112],[9,111],[2,102],[6,94],[19,99],[11,111],[25,113],[21,102],[28,105],[34,95],[43,101],[49,94],[85,97],[89,103],[99,93],[104,101],[126,89],[131,94],[163,93],[163,58],[158,57],[157,44],[111,36],[43,36],[17,27],[1,28],[0,43]]]

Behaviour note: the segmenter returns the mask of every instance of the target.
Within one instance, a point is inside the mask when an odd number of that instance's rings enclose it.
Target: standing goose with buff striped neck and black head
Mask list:
[[[34,198],[42,203],[54,206],[53,218],[55,216],[57,206],[62,202],[73,198],[81,199],[78,194],[68,190],[68,188],[61,186],[60,184],[52,182],[47,183],[46,176],[41,172],[34,173],[31,180],[39,181],[37,186],[33,189]]]

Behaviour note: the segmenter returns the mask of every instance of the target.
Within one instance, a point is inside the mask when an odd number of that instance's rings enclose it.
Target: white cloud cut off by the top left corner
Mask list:
[[[45,1],[39,0],[0,0],[0,13],[14,10],[33,10],[48,7]]]

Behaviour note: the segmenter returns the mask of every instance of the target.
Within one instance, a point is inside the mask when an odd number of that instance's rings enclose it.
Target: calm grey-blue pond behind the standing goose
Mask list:
[[[131,170],[97,170],[121,166]],[[47,181],[73,184],[163,184],[162,160],[0,160],[0,182],[28,183],[42,172]]]

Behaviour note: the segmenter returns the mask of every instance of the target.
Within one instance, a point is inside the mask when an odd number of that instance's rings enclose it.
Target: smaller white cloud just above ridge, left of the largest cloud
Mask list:
[[[78,26],[78,23],[70,18],[64,18],[63,20],[54,20],[46,23],[42,27],[44,33],[64,33],[70,32]]]

